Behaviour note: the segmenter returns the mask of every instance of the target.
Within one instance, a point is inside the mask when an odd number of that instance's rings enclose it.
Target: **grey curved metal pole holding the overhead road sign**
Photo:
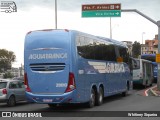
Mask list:
[[[136,12],[158,26],[158,53],[160,53],[160,21],[155,21],[136,9],[122,9],[121,12]],[[157,88],[160,90],[160,63],[158,63]]]

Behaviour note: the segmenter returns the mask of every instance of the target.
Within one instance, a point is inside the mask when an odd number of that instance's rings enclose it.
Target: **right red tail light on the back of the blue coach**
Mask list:
[[[67,85],[67,88],[66,88],[65,92],[71,92],[75,88],[76,88],[76,85],[75,85],[74,74],[73,73],[69,73],[68,85]]]

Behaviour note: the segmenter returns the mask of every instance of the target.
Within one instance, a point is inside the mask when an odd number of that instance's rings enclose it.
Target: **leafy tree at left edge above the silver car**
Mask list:
[[[8,51],[6,49],[0,49],[0,70],[6,71],[10,69],[12,63],[15,62],[16,56],[14,52]]]

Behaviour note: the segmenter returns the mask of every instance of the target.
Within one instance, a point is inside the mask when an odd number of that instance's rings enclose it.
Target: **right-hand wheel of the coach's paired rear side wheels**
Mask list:
[[[97,93],[97,96],[96,96],[96,105],[97,106],[100,106],[103,104],[103,97],[104,97],[104,94],[103,94],[103,88],[100,87],[99,88],[99,93]]]

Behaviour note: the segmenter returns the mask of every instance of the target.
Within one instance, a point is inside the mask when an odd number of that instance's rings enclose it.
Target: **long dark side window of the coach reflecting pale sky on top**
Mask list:
[[[85,59],[116,61],[115,46],[89,37],[76,38],[78,54]]]

